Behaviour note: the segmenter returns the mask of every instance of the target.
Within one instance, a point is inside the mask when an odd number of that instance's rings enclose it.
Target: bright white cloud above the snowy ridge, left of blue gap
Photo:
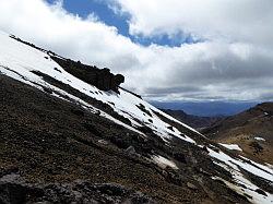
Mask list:
[[[0,0],[0,13],[1,29],[66,57],[100,67],[117,67],[118,56],[135,60],[129,53],[138,46],[118,35],[116,27],[98,22],[94,14],[83,20],[69,14],[60,3],[50,7],[41,0]]]

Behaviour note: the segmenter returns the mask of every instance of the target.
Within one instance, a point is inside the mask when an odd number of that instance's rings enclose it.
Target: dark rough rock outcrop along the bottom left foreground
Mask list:
[[[25,183],[19,175],[0,179],[0,203],[128,203],[152,204],[149,196],[119,184],[93,184],[78,180],[72,183]]]

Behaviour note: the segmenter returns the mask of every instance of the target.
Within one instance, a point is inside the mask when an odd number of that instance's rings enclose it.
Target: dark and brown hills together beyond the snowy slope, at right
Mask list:
[[[273,164],[273,103],[259,104],[229,117],[199,117],[183,110],[162,110],[215,142],[238,145],[244,156]]]

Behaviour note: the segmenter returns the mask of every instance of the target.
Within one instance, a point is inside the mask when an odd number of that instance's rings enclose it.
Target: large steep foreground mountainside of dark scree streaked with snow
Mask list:
[[[269,167],[123,88],[75,77],[68,59],[12,37],[0,34],[0,202],[273,201]]]

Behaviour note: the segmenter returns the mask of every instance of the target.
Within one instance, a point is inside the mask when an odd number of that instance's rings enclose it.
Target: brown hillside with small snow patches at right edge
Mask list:
[[[203,133],[217,142],[238,144],[250,158],[273,164],[273,103],[228,117]]]

